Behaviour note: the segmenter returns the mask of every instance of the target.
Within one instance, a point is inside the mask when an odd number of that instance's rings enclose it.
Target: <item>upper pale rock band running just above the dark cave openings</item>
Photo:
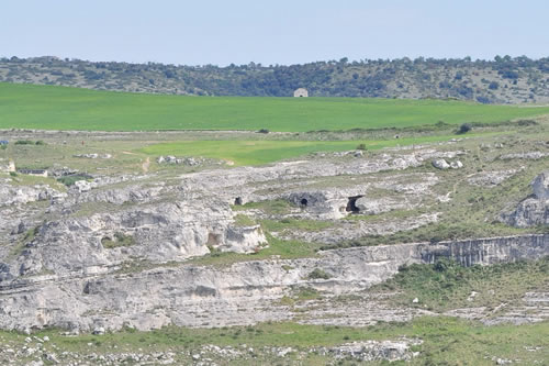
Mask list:
[[[194,196],[216,192],[217,197],[227,203],[234,204],[238,201],[238,204],[243,204],[249,201],[287,198],[288,191],[295,191],[296,193],[310,191],[311,188],[309,187],[299,188],[299,182],[301,181],[301,185],[306,186],[307,179],[314,181],[326,177],[352,177],[379,171],[400,171],[418,167],[436,157],[453,158],[463,154],[462,151],[440,152],[434,148],[418,148],[407,153],[384,153],[369,158],[343,158],[340,162],[333,158],[317,158],[314,160],[278,163],[264,167],[238,167],[226,170],[222,175],[215,170],[199,171],[184,175],[181,179],[180,189],[188,192],[192,191],[191,195]],[[427,178],[427,185],[430,184],[429,180]],[[292,187],[292,185],[296,186]],[[283,188],[283,193],[278,191],[280,188]],[[315,189],[312,190],[315,191]],[[341,200],[345,207],[345,198],[361,193],[359,188],[347,187],[344,190],[349,190],[349,195],[346,192],[347,196],[344,197],[343,195],[329,193],[326,199],[333,199],[334,204],[320,208],[320,212],[333,212],[334,218],[340,217],[340,213],[338,213],[340,202],[338,200]],[[357,192],[352,193],[352,191]]]

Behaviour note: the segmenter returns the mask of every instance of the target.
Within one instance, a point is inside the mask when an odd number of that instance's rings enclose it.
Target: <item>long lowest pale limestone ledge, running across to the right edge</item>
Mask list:
[[[142,330],[250,324],[291,318],[274,303],[296,286],[337,295],[379,284],[401,265],[433,263],[437,257],[490,265],[547,255],[548,234],[336,249],[313,258],[254,260],[223,268],[183,264],[121,273],[113,266],[102,274],[74,268],[11,279],[0,276],[0,326],[92,331],[124,324]],[[56,259],[43,260],[47,266]],[[317,268],[329,279],[311,279]],[[0,265],[0,273],[7,270]]]

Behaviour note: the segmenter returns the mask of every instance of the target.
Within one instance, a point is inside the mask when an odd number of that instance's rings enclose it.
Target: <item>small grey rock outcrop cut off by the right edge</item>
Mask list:
[[[516,228],[549,224],[549,173],[537,176],[531,188],[534,196],[522,201],[515,211],[502,214],[504,222]]]

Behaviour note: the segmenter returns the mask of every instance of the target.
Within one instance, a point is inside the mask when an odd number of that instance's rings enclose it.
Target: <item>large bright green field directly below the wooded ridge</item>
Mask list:
[[[180,97],[0,84],[0,129],[306,132],[496,122],[546,113],[549,107],[461,101]]]

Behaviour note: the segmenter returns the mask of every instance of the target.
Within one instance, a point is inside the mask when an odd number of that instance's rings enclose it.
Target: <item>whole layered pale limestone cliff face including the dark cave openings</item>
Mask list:
[[[225,257],[215,258],[221,252],[258,252],[267,240],[254,222],[266,217],[279,224],[283,224],[282,217],[290,222],[305,219],[270,234],[314,243],[338,243],[436,222],[440,213],[423,209],[425,204],[438,207],[440,197],[448,196],[438,182],[449,174],[425,169],[425,165],[433,159],[457,164],[461,154],[423,147],[372,157],[326,153],[312,160],[271,166],[171,171],[169,179],[153,173],[104,176],[77,182],[66,192],[49,186],[16,186],[7,178],[0,181],[0,328],[60,326],[103,333],[124,325],[149,330],[169,324],[223,326],[288,320],[293,314],[281,299],[303,287],[329,298],[366,290],[410,263],[452,257],[463,265],[493,264],[547,255],[549,236],[528,235],[317,255],[305,251],[311,257],[293,258],[292,254],[293,259],[267,257],[268,252],[261,252],[262,260],[234,255],[227,262],[243,262],[200,265],[204,263],[200,260],[224,263]],[[416,169],[404,171],[408,168]],[[536,180],[539,197],[547,197],[546,180]],[[539,197],[535,200],[540,201]],[[246,202],[257,204],[237,211],[236,206]],[[268,206],[272,202],[282,203],[278,209],[283,213]],[[255,209],[260,204],[272,212]],[[392,210],[406,212],[382,215]],[[237,218],[247,213],[248,220]],[[316,231],[318,226],[323,229]],[[197,258],[205,254],[211,257]],[[312,278],[318,270],[322,278]],[[318,317],[311,312],[306,321],[348,321],[317,311]],[[351,313],[351,321],[362,325],[380,319],[408,320],[414,314],[380,309],[372,302],[362,302],[354,311],[340,314]]]

